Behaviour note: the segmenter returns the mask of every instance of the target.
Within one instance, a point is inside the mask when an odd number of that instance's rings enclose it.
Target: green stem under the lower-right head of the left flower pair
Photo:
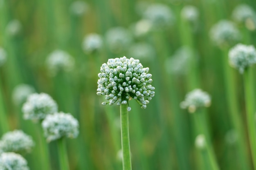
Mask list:
[[[58,139],[58,158],[61,170],[69,170],[68,158],[67,158],[67,148],[65,145],[65,139]]]

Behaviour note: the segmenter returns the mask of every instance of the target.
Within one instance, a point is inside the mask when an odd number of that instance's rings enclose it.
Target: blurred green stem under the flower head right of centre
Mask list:
[[[195,111],[195,113],[192,113],[193,114],[193,117],[194,117],[194,125],[195,125],[195,129],[197,131],[197,134],[200,135],[204,135],[205,137],[205,150],[206,150],[206,153],[204,150],[201,150],[201,154],[203,156],[203,160],[204,160],[204,166],[205,166],[205,169],[209,169],[209,170],[220,170],[219,167],[218,167],[218,163],[217,163],[217,160],[216,160],[216,156],[213,152],[213,147],[211,146],[211,143],[210,143],[210,139],[209,139],[209,128],[207,126],[207,119],[206,119],[206,116],[205,116],[205,109],[203,108],[199,108],[198,110]],[[205,159],[204,156],[207,156],[207,159]],[[207,162],[205,162],[207,161]],[[208,165],[210,165],[210,168],[207,168]]]

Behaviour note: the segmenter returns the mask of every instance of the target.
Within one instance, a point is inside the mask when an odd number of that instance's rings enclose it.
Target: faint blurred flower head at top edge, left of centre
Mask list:
[[[70,11],[76,16],[81,16],[89,10],[88,4],[84,1],[74,1],[70,6]]]

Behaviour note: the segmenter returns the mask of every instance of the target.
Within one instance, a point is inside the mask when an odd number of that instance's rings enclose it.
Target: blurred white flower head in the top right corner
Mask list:
[[[238,23],[245,23],[249,30],[255,29],[256,13],[254,9],[247,4],[238,5],[232,13],[232,18]]]

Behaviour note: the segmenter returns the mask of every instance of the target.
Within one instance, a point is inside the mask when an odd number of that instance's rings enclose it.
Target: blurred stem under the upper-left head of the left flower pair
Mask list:
[[[41,152],[40,166],[42,170],[51,170],[52,168],[51,168],[50,159],[49,159],[49,148],[44,136],[43,128],[41,127],[41,122],[38,122],[36,125],[38,128],[38,135],[40,138],[40,144],[38,146],[40,147],[40,152]]]

